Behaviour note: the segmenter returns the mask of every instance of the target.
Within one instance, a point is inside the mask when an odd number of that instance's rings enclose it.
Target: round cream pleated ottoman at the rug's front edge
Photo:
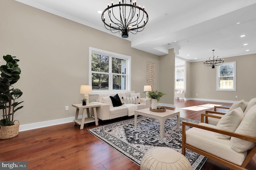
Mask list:
[[[188,159],[167,147],[148,150],[142,157],[140,170],[193,170]]]

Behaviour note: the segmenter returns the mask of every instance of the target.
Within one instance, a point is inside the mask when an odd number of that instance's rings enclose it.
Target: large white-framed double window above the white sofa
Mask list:
[[[89,48],[89,84],[93,91],[129,91],[131,57]]]

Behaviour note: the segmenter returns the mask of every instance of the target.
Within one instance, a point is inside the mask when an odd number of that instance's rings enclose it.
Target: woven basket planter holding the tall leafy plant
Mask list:
[[[4,126],[4,127],[1,126],[0,139],[10,139],[10,138],[17,136],[19,134],[19,126],[20,126],[19,121],[16,125]]]

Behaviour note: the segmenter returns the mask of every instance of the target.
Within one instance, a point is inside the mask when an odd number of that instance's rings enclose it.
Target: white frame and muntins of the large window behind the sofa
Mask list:
[[[119,53],[114,53],[110,51],[105,51],[102,49],[97,49],[94,47],[89,47],[89,85],[92,85],[92,73],[99,73],[96,71],[92,71],[92,53],[97,53],[100,55],[106,55],[109,56],[109,76],[108,76],[108,89],[109,90],[93,90],[92,94],[98,94],[98,93],[113,93],[113,92],[120,92],[120,91],[131,91],[131,63],[132,63],[132,57],[129,55],[123,55]],[[113,75],[124,75],[124,74],[118,74],[118,73],[112,73],[112,57],[119,58],[119,59],[125,59],[126,60],[126,90],[115,90],[113,89]]]

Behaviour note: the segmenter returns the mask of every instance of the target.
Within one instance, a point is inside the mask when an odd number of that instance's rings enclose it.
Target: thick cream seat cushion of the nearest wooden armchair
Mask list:
[[[216,128],[206,123],[199,125]],[[238,165],[242,165],[247,155],[231,149],[230,139],[218,139],[214,132],[195,127],[186,131],[186,143]]]

